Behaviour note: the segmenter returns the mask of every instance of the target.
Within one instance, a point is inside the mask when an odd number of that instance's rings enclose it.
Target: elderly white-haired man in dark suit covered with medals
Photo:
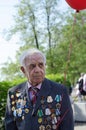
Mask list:
[[[20,63],[27,81],[8,91],[6,130],[74,130],[66,87],[45,78],[44,54],[27,50]]]

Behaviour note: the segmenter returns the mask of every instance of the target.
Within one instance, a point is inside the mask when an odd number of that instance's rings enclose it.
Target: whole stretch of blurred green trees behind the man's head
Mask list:
[[[17,51],[17,61],[2,68],[5,79],[23,78],[18,56],[27,48],[37,47],[36,40],[47,57],[47,74],[66,73],[74,85],[80,73],[86,72],[86,11],[61,12],[58,3],[21,0],[17,5],[15,26],[10,31],[20,34],[23,46]]]

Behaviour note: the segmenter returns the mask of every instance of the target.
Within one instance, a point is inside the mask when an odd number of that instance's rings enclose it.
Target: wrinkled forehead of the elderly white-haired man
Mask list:
[[[39,53],[33,53],[29,56],[26,57],[25,63],[36,63],[36,62],[43,62],[44,63],[44,58],[41,54]]]

